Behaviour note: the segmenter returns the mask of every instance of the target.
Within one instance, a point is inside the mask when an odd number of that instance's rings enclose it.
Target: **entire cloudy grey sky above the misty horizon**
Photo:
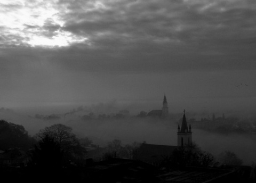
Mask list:
[[[0,106],[256,107],[254,0],[1,0]]]

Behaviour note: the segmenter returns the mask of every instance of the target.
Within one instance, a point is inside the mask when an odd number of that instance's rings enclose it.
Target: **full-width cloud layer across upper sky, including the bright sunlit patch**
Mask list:
[[[254,1],[20,0],[0,9],[2,47],[57,46],[51,59],[72,57],[77,68],[255,68]]]

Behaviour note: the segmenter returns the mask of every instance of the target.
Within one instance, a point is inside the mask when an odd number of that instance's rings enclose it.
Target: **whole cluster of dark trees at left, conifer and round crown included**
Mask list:
[[[23,126],[0,121],[0,150],[22,149],[29,154],[30,164],[49,165],[57,156],[56,160],[61,159],[58,165],[83,159],[86,154],[84,146],[90,143],[88,138],[78,139],[72,128],[63,124],[53,124],[31,137]]]

